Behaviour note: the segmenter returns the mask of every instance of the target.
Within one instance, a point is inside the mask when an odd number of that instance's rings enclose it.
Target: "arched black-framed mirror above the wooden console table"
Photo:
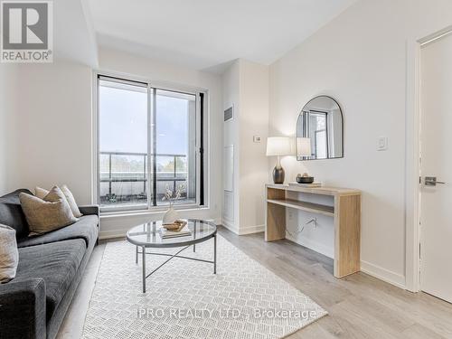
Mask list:
[[[344,120],[336,100],[311,99],[297,120],[297,160],[344,157]]]

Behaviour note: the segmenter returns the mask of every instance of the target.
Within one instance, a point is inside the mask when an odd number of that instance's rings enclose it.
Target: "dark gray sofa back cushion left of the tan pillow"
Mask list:
[[[19,193],[32,194],[22,189],[0,197],[0,223],[12,227],[17,239],[26,237],[29,233],[28,223],[19,201]]]

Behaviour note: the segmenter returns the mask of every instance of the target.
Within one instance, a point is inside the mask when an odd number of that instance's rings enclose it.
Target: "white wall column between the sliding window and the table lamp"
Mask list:
[[[223,109],[234,107],[233,120],[224,124],[223,141],[225,146],[234,145],[234,221],[223,220],[223,224],[238,234],[264,227],[268,71],[268,66],[240,59],[222,75]],[[261,137],[261,142],[254,143],[254,136]]]

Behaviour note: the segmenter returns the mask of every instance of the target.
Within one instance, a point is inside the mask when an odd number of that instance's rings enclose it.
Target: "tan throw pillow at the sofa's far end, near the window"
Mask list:
[[[34,234],[58,230],[77,221],[66,200],[46,202],[26,193],[20,193],[19,199],[30,231]]]

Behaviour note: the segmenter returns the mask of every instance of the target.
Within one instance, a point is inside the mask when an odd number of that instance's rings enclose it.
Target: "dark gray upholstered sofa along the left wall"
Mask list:
[[[16,277],[0,285],[0,339],[54,338],[98,241],[99,207],[80,206],[71,226],[28,237],[17,190],[0,197],[0,223],[16,231]]]

